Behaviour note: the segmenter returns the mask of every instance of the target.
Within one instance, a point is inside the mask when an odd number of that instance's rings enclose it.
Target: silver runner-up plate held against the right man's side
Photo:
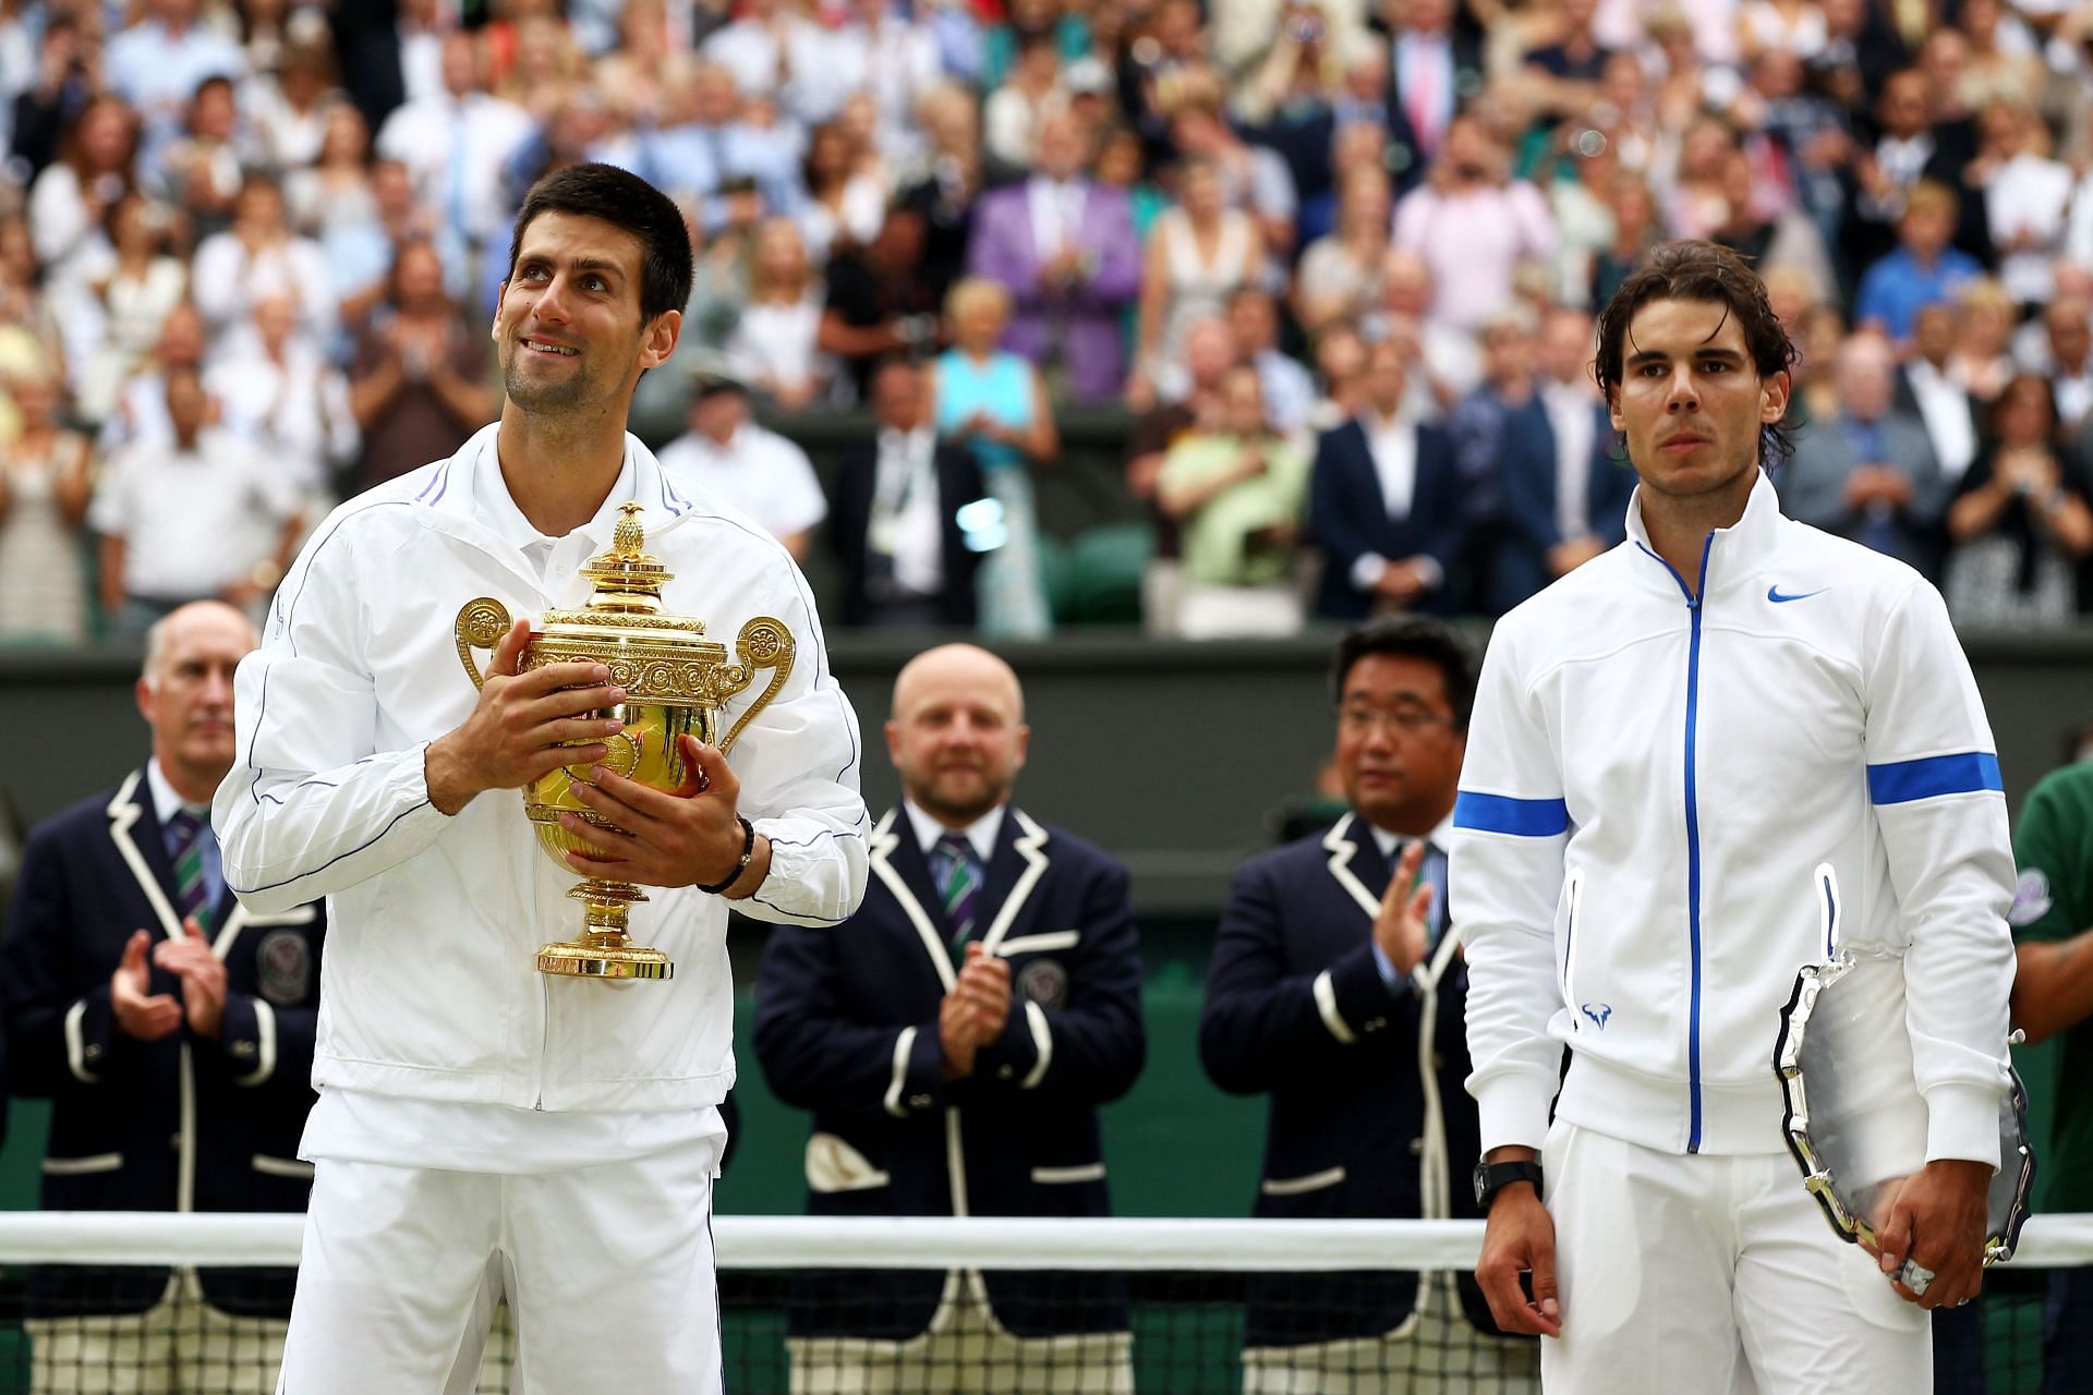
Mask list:
[[[1796,975],[1773,1046],[1785,1115],[1781,1136],[1825,1219],[1844,1240],[1873,1247],[1896,1186],[1926,1167],[1926,1100],[1905,1025],[1905,960],[1840,952]],[[1984,1263],[2011,1259],[2028,1219],[2034,1150],[2028,1092],[2007,1067],[1999,1159],[1984,1219]],[[1923,1280],[1913,1284],[1923,1288]]]

